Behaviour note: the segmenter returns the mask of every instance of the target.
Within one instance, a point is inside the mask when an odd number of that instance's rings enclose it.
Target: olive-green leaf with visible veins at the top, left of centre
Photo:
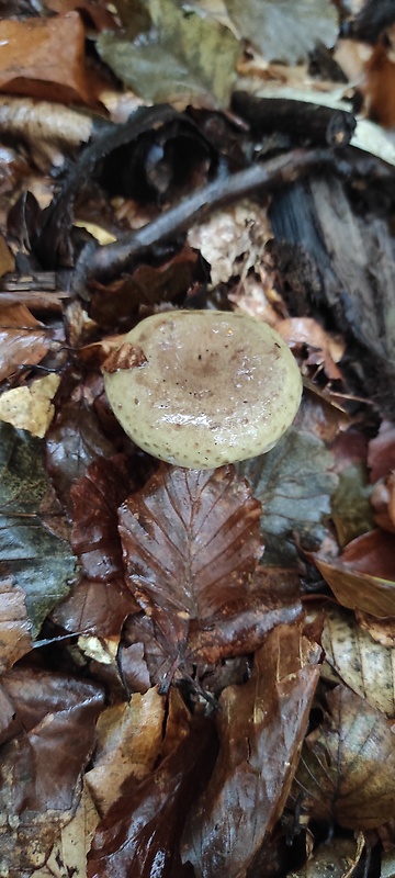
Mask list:
[[[110,32],[98,52],[122,81],[145,101],[188,97],[226,106],[240,46],[221,22],[174,0],[150,0],[153,27],[135,41]]]

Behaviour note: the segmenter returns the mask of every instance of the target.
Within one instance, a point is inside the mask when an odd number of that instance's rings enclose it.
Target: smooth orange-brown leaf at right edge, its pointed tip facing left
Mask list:
[[[338,601],[372,616],[395,616],[394,537],[372,530],[352,540],[341,555],[312,554]]]

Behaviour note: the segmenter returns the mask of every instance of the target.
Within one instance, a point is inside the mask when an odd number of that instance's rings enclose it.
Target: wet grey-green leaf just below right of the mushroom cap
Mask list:
[[[323,519],[330,514],[330,496],[338,484],[332,464],[320,439],[295,428],[268,454],[238,464],[262,504],[263,564],[295,563],[294,532],[306,548],[323,541]]]

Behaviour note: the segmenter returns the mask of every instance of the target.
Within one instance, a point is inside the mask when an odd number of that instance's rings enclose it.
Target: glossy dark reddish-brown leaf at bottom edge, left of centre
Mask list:
[[[196,719],[159,767],[110,808],[88,854],[88,878],[189,878],[178,843],[213,757],[213,728]]]

